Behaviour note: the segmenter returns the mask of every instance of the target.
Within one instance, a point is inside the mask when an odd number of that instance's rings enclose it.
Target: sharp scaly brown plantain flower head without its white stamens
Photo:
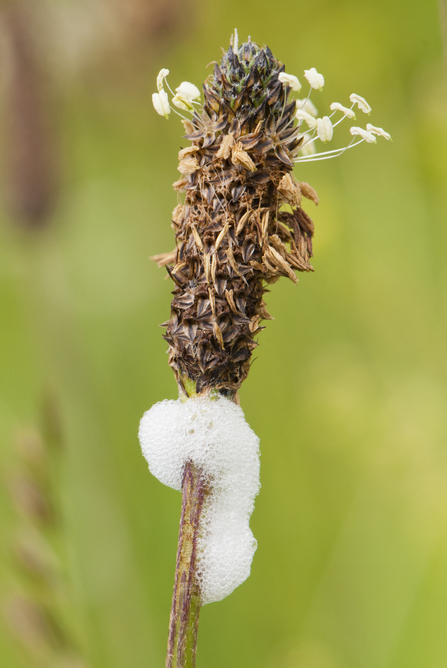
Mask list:
[[[184,121],[192,144],[179,153],[174,184],[186,193],[172,216],[177,247],[154,258],[176,285],[163,326],[183,391],[191,379],[197,393],[234,394],[271,318],[267,285],[313,271],[314,227],[300,203],[318,198],[291,174],[302,139],[282,71],[268,47],[230,47],[203,85],[203,109]]]

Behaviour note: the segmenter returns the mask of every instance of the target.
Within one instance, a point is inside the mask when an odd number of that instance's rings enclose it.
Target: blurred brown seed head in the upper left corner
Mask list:
[[[55,120],[26,4],[0,14],[7,41],[5,90],[7,204],[22,227],[41,229],[54,210],[58,190]]]

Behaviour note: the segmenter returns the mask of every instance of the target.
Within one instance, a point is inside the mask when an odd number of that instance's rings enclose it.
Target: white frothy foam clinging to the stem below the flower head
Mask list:
[[[249,520],[260,487],[258,437],[225,397],[155,404],[139,437],[151,473],[165,485],[181,489],[187,461],[208,477],[198,572],[202,603],[222,600],[248,578],[256,550]]]

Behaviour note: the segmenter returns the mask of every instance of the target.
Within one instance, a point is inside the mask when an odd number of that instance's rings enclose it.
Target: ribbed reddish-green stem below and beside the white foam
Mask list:
[[[187,462],[182,483],[182,514],[169,619],[166,668],[194,668],[201,608],[196,571],[200,517],[207,494],[202,471]]]

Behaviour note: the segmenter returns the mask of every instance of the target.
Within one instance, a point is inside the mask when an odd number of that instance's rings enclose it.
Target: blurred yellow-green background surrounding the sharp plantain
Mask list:
[[[197,667],[447,667],[446,16],[434,0],[2,3],[2,666],[164,665],[180,495],[137,429],[176,397],[172,288],[148,257],[173,247],[185,144],[151,94],[161,67],[200,84],[237,27],[325,75],[320,113],[365,96],[393,143],[295,170],[320,195],[315,273],[268,295],[241,390],[258,551],[202,610]],[[56,520],[29,491],[36,442]],[[18,535],[53,571],[18,559]],[[71,659],[26,601],[69,629]]]

